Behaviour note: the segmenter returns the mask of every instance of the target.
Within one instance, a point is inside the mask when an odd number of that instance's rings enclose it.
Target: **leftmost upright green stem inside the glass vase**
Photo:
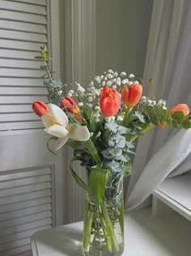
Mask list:
[[[90,249],[91,240],[91,224],[93,220],[94,212],[89,210],[89,202],[85,202],[85,212],[83,221],[83,249],[88,253]]]

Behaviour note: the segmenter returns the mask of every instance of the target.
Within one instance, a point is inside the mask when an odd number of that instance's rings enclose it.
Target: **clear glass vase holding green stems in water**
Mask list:
[[[120,256],[124,251],[123,176],[111,174],[100,208],[87,194],[83,221],[86,256]]]

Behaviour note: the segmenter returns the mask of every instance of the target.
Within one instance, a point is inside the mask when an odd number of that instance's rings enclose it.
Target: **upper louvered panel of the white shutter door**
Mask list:
[[[34,59],[48,44],[45,0],[0,1],[0,131],[41,128],[32,102],[48,102],[40,62]]]

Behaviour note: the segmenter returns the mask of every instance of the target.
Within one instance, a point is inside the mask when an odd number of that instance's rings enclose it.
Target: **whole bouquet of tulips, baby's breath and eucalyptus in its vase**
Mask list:
[[[85,255],[121,255],[124,249],[123,177],[132,171],[135,141],[151,128],[191,128],[189,107],[173,106],[164,100],[142,96],[146,81],[134,75],[108,70],[83,88],[78,83],[67,89],[51,76],[49,56],[41,47],[40,68],[47,76],[44,85],[52,103],[34,102],[33,110],[55,141],[52,152],[62,145],[74,150],[70,171],[87,191],[83,225]],[[151,80],[147,81],[151,82]],[[54,152],[53,152],[54,153]],[[74,171],[80,161],[87,170],[86,184]]]

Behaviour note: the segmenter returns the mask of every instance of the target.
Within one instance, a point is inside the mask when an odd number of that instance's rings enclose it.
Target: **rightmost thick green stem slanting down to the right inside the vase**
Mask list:
[[[116,234],[115,234],[114,229],[112,227],[112,222],[109,219],[108,210],[107,210],[107,207],[106,207],[106,203],[104,201],[101,204],[101,210],[102,210],[102,213],[104,215],[104,221],[107,225],[108,232],[110,233],[110,236],[111,236],[113,252],[118,252],[119,251],[119,246],[117,244]]]

